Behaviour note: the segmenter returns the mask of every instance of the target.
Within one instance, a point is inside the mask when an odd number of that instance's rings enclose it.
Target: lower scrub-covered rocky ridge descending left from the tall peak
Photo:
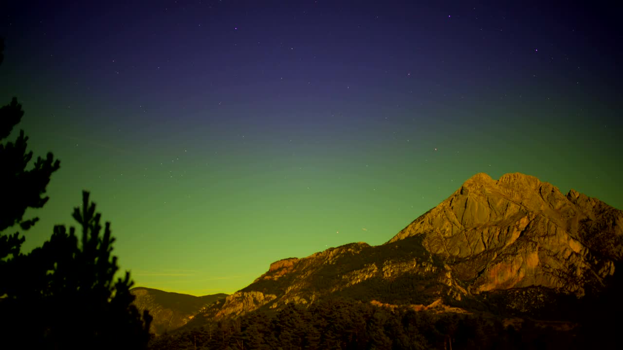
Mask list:
[[[401,288],[412,286],[413,280],[426,282],[427,286],[417,290]],[[413,304],[429,305],[447,295],[460,299],[467,293],[452,278],[450,267],[435,260],[417,239],[380,247],[359,242],[272,263],[254,283],[228,296],[223,305],[215,305],[218,310],[205,313],[221,319],[260,308],[276,309],[287,303],[309,304],[329,295],[400,303],[384,295],[384,289],[392,286],[404,292],[404,302]]]

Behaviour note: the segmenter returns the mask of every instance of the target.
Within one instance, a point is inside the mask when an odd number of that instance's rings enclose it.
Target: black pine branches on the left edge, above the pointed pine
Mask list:
[[[4,59],[4,38],[0,37],[0,63]],[[14,126],[24,115],[22,105],[13,97],[11,103],[0,107],[0,141],[7,138]],[[52,153],[45,159],[37,157],[32,169],[27,169],[32,160],[32,151],[27,151],[27,136],[20,130],[15,142],[0,143],[0,279],[4,280],[6,258],[17,256],[24,242],[19,232],[7,234],[4,230],[19,224],[22,230],[28,230],[39,218],[24,219],[27,208],[43,207],[49,197],[42,197],[50,176],[60,166]],[[0,285],[0,296],[4,291]]]

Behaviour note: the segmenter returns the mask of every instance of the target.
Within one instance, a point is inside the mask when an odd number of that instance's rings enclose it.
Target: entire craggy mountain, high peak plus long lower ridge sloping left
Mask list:
[[[573,189],[562,194],[525,174],[497,181],[476,174],[386,244],[278,260],[189,326],[329,296],[416,310],[546,315],[613,275],[622,236],[623,212],[598,199]]]

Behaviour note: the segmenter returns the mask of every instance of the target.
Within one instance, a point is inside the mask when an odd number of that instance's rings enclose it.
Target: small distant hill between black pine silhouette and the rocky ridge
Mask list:
[[[156,335],[183,326],[207,306],[227,296],[223,293],[194,296],[145,287],[132,288],[130,293],[136,297],[134,305],[141,313],[145,309],[150,311],[153,316],[150,330]]]

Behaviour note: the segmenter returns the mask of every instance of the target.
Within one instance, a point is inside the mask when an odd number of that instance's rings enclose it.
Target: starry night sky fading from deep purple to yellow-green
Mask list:
[[[475,173],[622,209],[621,9],[502,2],[3,2],[0,104],[61,162],[24,249],[87,189],[136,285],[205,295]]]

